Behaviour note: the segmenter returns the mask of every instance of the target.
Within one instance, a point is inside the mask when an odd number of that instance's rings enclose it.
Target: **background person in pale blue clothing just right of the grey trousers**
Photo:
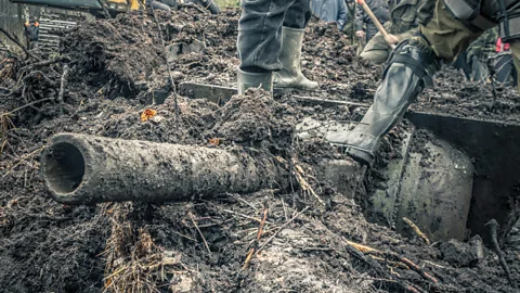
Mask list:
[[[320,20],[335,22],[343,30],[348,20],[344,0],[311,0],[311,9]]]

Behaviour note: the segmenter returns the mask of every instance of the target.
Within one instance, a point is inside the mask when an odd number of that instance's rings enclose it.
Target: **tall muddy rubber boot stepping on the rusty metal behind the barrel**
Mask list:
[[[440,63],[426,41],[401,42],[390,56],[374,104],[351,131],[329,132],[325,139],[347,146],[347,153],[361,164],[372,165],[381,138],[401,120],[408,105],[425,87]]]

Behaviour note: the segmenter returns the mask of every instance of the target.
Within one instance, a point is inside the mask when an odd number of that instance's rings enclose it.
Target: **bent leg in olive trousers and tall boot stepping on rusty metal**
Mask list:
[[[468,29],[438,0],[433,14],[421,34],[402,41],[392,52],[374,104],[352,130],[329,132],[326,140],[347,146],[347,152],[362,164],[372,165],[381,138],[399,123],[408,105],[433,85],[441,59],[452,61],[480,34]]]

